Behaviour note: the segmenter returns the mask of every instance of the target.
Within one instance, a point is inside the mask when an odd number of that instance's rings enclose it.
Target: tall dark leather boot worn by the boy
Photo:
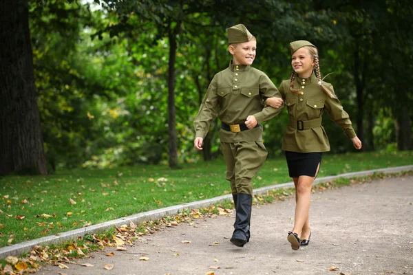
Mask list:
[[[253,196],[244,193],[237,194],[237,203],[235,205],[235,223],[234,232],[231,237],[231,243],[243,247],[249,241],[249,226],[251,221],[251,207]],[[234,201],[235,202],[235,201]]]

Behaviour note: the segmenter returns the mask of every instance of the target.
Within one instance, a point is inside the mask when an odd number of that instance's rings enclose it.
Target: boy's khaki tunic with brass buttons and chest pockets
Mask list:
[[[198,115],[195,118],[195,137],[204,138],[211,120],[218,113],[218,118],[225,124],[242,124],[248,115],[254,115],[258,123],[270,120],[282,111],[264,107],[266,98],[278,97],[281,94],[270,78],[251,66],[233,65],[215,74],[209,84],[207,94],[202,100]],[[262,141],[262,127],[232,133],[220,131],[221,142]]]

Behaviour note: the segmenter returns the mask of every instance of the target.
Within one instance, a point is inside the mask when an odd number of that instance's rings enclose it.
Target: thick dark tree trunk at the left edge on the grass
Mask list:
[[[0,175],[47,174],[28,17],[28,1],[0,1]]]

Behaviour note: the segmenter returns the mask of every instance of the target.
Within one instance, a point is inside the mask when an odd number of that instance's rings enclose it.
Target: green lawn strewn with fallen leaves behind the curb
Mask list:
[[[325,154],[319,177],[413,164],[413,151]],[[229,194],[222,160],[0,178],[0,247],[138,212]],[[284,157],[268,159],[254,188],[291,181]],[[70,203],[72,199],[76,204]],[[51,217],[42,217],[42,214]],[[16,219],[16,217],[24,219]]]

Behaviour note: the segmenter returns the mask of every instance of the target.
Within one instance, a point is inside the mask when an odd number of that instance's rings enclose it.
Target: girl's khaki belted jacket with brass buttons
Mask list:
[[[321,126],[321,116],[324,110],[328,111],[331,120],[336,122],[348,137],[356,136],[348,113],[343,110],[340,101],[330,98],[317,82],[314,73],[310,78],[295,78],[294,89],[301,90],[301,94],[290,91],[290,80],[284,80],[279,87],[290,118],[290,124],[286,127],[282,141],[284,151],[299,153],[330,151],[326,131]],[[330,83],[323,82],[323,85],[334,93]],[[297,122],[297,120],[302,122]],[[308,122],[308,120],[311,121]]]

